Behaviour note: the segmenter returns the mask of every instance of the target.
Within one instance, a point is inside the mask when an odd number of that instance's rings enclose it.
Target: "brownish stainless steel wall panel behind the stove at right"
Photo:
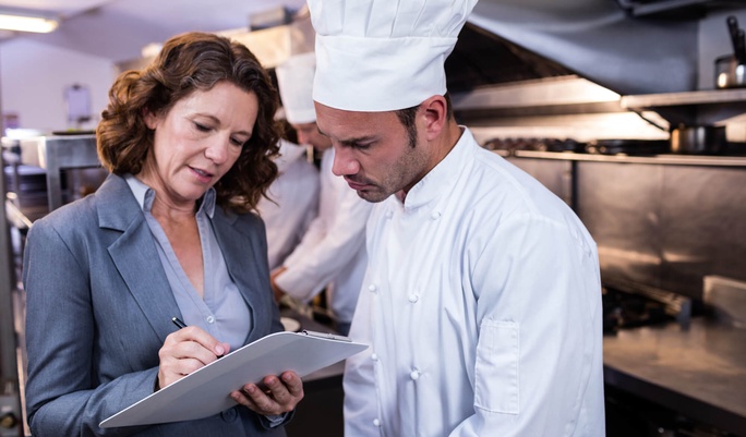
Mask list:
[[[602,278],[696,299],[707,275],[746,280],[746,168],[579,161],[576,178]]]

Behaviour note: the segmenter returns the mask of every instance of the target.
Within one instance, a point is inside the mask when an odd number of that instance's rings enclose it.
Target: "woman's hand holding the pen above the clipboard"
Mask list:
[[[206,366],[228,351],[230,344],[219,342],[197,326],[188,326],[170,333],[158,351],[160,364],[156,390]]]

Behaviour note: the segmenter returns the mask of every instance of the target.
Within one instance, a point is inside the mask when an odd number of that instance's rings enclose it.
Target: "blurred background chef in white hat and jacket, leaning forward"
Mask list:
[[[288,122],[298,142],[321,154],[318,216],[301,243],[272,274],[275,298],[287,294],[310,302],[321,292],[338,332],[349,331],[360,284],[365,272],[365,221],[371,205],[332,173],[332,143],[316,129],[311,97],[315,71],[314,53],[290,57],[275,70]]]

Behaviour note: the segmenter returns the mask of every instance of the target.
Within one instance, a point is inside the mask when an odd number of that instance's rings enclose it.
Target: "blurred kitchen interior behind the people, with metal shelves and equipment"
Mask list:
[[[0,0],[5,12],[57,26],[0,31],[0,437],[15,437],[24,235],[105,177],[93,130],[116,75],[186,31],[239,39],[274,74],[313,50],[313,31],[301,0]],[[746,436],[745,26],[736,0],[480,0],[446,62],[459,121],[599,244],[610,437]],[[290,436],[341,435],[340,378],[309,379]]]

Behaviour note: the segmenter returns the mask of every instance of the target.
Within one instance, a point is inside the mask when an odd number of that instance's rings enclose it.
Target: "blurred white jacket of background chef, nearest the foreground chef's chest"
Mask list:
[[[289,295],[308,302],[327,289],[327,303],[340,323],[352,320],[365,274],[365,222],[372,204],[345,179],[332,173],[334,149],[321,159],[321,199],[316,217],[301,243],[282,264],[275,281]]]

